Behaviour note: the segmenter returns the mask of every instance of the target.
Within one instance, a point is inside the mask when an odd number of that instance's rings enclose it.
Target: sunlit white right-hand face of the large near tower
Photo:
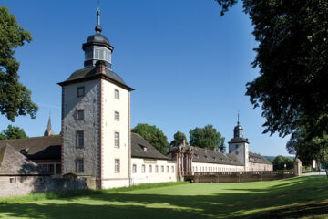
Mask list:
[[[129,92],[117,85],[102,79],[102,188],[122,187],[129,185]],[[119,99],[114,97],[118,89]],[[115,111],[119,120],[114,119]],[[119,148],[114,146],[114,133],[119,132]],[[119,172],[115,172],[115,159],[119,159]]]

